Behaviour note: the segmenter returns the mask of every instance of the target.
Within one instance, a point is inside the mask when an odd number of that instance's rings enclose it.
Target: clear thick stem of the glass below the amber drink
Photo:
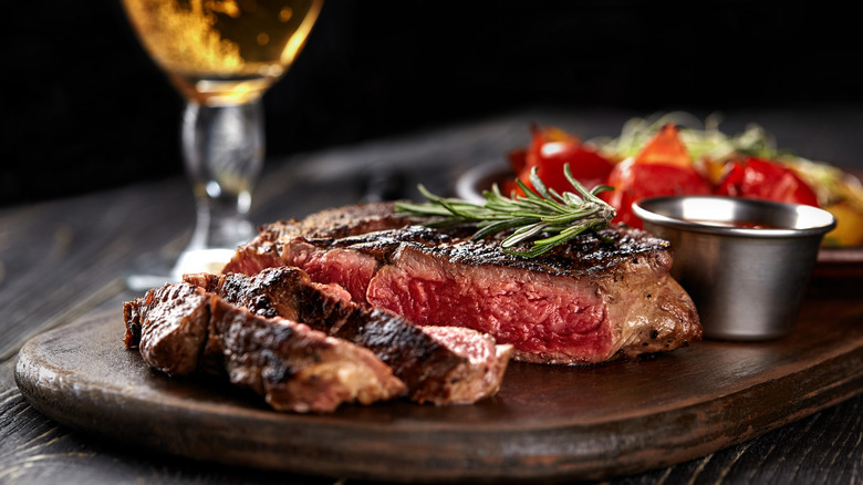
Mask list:
[[[183,116],[186,173],[197,202],[187,251],[233,249],[254,236],[251,190],[263,166],[263,106],[189,102]]]

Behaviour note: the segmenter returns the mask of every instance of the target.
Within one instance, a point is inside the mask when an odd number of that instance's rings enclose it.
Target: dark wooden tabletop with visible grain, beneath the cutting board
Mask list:
[[[268,161],[252,219],[302,217],[382,193],[416,197],[419,182],[445,193],[477,164],[503,164],[509,148],[527,143],[531,122],[586,138],[616,135],[626,118],[643,114],[534,110]],[[780,147],[862,168],[859,107],[729,112],[721,127],[736,132],[748,122],[772,132]],[[139,296],[127,289],[126,277],[168,265],[193,221],[191,194],[179,177],[0,209],[0,483],[360,483],[194,463],[117,445],[44,417],[19,392],[13,370],[24,342],[95,312],[119,312],[124,300]],[[860,299],[861,287],[863,281],[852,279],[817,291]],[[857,394],[730,448],[611,483],[861,484],[862,416]]]

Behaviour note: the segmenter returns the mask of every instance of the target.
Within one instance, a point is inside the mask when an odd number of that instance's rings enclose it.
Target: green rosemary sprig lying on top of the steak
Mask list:
[[[430,225],[476,223],[477,231],[472,239],[481,239],[498,233],[514,229],[500,244],[503,252],[532,258],[543,255],[554,246],[566,242],[573,237],[607,226],[617,215],[596,194],[611,189],[600,185],[588,190],[572,176],[569,164],[563,166],[566,180],[575,193],[559,194],[545,187],[534,167],[530,173],[530,189],[523,182],[516,180],[524,196],[513,194],[506,197],[497,185],[485,190],[482,205],[457,198],[439,197],[419,186],[419,192],[428,200],[426,204],[397,203],[396,210],[414,216],[437,217]],[[521,242],[532,239],[530,249],[512,249]]]

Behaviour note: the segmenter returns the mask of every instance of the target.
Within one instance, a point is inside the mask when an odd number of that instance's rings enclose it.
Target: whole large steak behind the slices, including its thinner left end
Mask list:
[[[592,364],[701,337],[663,239],[614,225],[527,259],[472,230],[420,226],[388,203],[329,209],[262,227],[222,272],[297,266],[415,324],[488,333],[526,362]]]

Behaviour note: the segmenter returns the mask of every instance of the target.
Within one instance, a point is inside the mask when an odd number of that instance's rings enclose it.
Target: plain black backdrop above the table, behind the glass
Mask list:
[[[14,4],[0,33],[0,205],[180,173],[181,101],[118,1]],[[649,114],[860,103],[861,27],[849,9],[329,0],[298,62],[264,97],[267,152],[537,105]]]

